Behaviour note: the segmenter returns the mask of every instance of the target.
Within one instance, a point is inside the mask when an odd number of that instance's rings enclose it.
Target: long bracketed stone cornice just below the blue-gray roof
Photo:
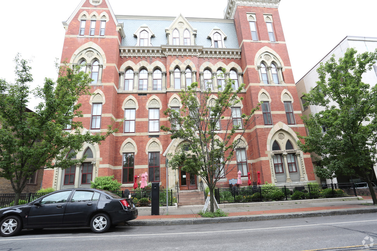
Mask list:
[[[161,47],[136,47],[121,46],[121,58],[133,57],[154,57],[162,58],[167,56],[196,56],[199,58],[241,58],[241,49],[228,48],[203,48],[203,46],[172,46],[162,45]]]

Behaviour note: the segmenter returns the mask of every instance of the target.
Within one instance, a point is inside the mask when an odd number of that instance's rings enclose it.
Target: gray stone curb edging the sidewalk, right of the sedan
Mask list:
[[[129,221],[129,226],[164,226],[164,225],[196,225],[207,223],[227,223],[227,222],[247,222],[247,221],[266,221],[276,219],[308,218],[317,216],[331,216],[344,214],[377,213],[377,208],[314,211],[304,213],[284,213],[284,214],[265,214],[250,216],[225,216],[219,218],[194,218],[194,219],[171,219],[171,220],[142,220]]]

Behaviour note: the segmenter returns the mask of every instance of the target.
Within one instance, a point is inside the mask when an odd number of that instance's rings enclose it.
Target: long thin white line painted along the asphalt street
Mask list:
[[[293,227],[311,227],[320,225],[333,225],[333,224],[346,224],[346,223],[356,223],[356,222],[370,222],[369,221],[345,221],[345,222],[334,222],[334,223],[321,223],[321,224],[310,224],[310,225],[295,225],[286,227],[267,227],[267,228],[249,228],[249,229],[236,229],[236,230],[219,230],[219,231],[204,231],[204,232],[189,232],[189,233],[169,233],[169,234],[122,234],[122,235],[95,235],[95,236],[70,236],[70,237],[38,237],[38,238],[22,238],[22,239],[0,239],[0,241],[9,240],[41,240],[41,239],[67,239],[67,238],[98,238],[98,237],[128,237],[128,236],[157,236],[157,235],[173,235],[173,234],[204,234],[204,233],[224,233],[224,232],[236,232],[236,231],[255,231],[255,230],[266,230],[266,229],[278,229],[278,228],[293,228]]]

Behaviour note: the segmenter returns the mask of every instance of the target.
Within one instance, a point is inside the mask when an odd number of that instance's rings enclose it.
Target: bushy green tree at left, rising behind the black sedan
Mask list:
[[[17,205],[28,178],[37,170],[64,169],[82,163],[85,156],[71,157],[83,148],[84,142],[100,144],[117,129],[109,125],[106,133],[92,135],[88,131],[81,133],[81,122],[72,121],[83,116],[78,110],[78,98],[91,94],[92,79],[80,72],[78,65],[60,67],[56,83],[46,78],[43,88],[30,91],[33,78],[28,61],[20,55],[14,61],[15,83],[0,79],[0,177],[11,181]],[[42,100],[35,112],[27,108],[29,94]],[[67,128],[71,130],[64,130]]]

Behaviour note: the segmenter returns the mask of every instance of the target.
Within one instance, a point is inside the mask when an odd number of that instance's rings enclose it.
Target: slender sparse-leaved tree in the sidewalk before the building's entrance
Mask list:
[[[221,75],[224,76],[225,69],[222,71]],[[181,109],[175,111],[169,108],[164,111],[169,116],[171,126],[161,126],[161,129],[169,132],[172,140],[182,140],[181,147],[171,156],[169,166],[202,177],[210,189],[210,211],[213,212],[213,191],[217,181],[221,174],[227,175],[236,168],[230,161],[234,159],[241,141],[234,140],[234,137],[244,136],[258,106],[248,115],[242,114],[242,122],[233,120],[231,108],[241,102],[242,97],[238,98],[238,93],[245,85],[233,90],[234,81],[227,79],[215,98],[211,85],[211,82],[202,83],[198,88],[198,82],[194,82],[187,90],[182,90],[179,94]],[[246,137],[247,142],[242,142],[242,147],[251,141],[250,137]]]

